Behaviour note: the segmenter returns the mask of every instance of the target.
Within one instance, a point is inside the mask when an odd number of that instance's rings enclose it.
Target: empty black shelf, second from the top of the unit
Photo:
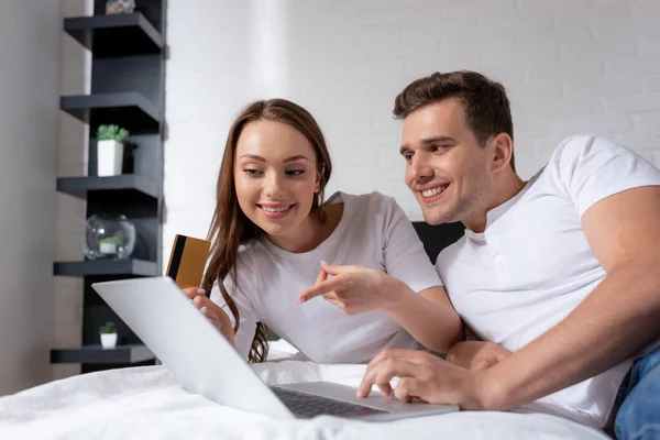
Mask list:
[[[65,96],[59,108],[88,123],[92,133],[100,124],[117,124],[131,134],[160,132],[158,109],[136,91]]]

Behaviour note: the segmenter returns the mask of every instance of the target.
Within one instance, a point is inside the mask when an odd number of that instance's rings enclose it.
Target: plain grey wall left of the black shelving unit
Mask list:
[[[0,395],[51,378],[59,2],[0,13]]]

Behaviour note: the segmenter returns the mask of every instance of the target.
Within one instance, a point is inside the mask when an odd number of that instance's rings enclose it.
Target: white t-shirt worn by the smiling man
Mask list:
[[[483,233],[466,230],[439,255],[438,273],[459,315],[512,352],[549,330],[605,278],[582,215],[610,195],[649,185],[660,185],[660,172],[630,150],[601,138],[564,140],[519,194],[487,213]],[[538,403],[603,427],[629,366]]]

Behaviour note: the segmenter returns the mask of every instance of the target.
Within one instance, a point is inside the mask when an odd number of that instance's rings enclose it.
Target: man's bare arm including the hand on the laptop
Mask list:
[[[614,367],[660,338],[660,187],[592,206],[582,222],[605,279],[563,321],[483,371],[427,353],[385,350],[370,362],[359,395],[389,394],[463,409],[507,410]]]

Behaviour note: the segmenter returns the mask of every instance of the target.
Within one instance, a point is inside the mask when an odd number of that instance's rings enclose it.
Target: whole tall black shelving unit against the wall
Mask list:
[[[84,279],[82,344],[54,348],[52,363],[76,363],[91,372],[155,362],[153,353],[96,294],[91,284],[162,274],[163,133],[167,0],[136,0],[134,13],[106,15],[95,0],[91,16],[68,18],[64,30],[91,51],[91,94],[61,97],[61,109],[89,124],[87,176],[62,176],[57,190],[84,198],[87,217],[122,213],[138,232],[130,260],[55,262],[58,276]],[[96,132],[100,124],[130,131],[121,176],[97,176]],[[80,233],[85,233],[81,226]],[[117,324],[116,349],[99,344],[99,327]]]

